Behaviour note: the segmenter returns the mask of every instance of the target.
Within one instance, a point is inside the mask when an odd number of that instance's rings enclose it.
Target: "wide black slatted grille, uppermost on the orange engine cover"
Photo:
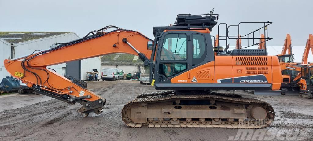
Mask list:
[[[267,57],[236,57],[236,65],[267,65]]]

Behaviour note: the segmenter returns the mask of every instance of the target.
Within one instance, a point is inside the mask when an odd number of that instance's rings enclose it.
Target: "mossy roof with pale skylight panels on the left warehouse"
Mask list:
[[[19,42],[25,42],[34,39],[40,39],[60,34],[66,34],[70,32],[20,32],[20,31],[0,31],[0,38],[7,42],[14,44]],[[14,39],[20,38],[20,39]]]

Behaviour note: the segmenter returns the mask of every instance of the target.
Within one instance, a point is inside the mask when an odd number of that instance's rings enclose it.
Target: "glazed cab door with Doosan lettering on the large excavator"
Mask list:
[[[190,83],[190,31],[161,35],[156,55],[156,83]]]

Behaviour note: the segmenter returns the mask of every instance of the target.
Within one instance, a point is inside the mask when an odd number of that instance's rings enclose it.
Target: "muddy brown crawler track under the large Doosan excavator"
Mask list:
[[[216,92],[143,93],[122,110],[122,120],[134,128],[264,128],[274,117],[266,102]]]

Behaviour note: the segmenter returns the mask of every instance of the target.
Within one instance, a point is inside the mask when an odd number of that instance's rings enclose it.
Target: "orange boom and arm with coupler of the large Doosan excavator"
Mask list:
[[[106,29],[110,27],[114,26]],[[86,35],[69,43],[54,44],[49,50],[4,60],[5,68],[12,76],[22,80],[28,87],[33,87],[38,93],[69,104],[79,102],[83,106],[77,112],[85,116],[90,112],[100,114],[106,102],[105,98],[89,91],[84,81],[70,81],[48,70],[47,66],[112,53],[138,55],[141,60],[149,61],[151,50],[147,48],[147,41],[150,39],[146,36],[137,31],[119,28],[107,33],[101,31],[104,29],[90,32],[93,35]]]

